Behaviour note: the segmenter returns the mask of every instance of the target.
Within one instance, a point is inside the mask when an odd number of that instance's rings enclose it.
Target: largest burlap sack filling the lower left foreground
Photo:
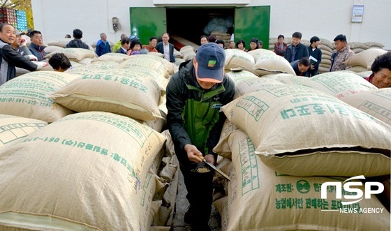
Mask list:
[[[72,114],[31,133],[0,151],[0,224],[142,230],[152,198],[143,186],[164,141],[108,112]]]

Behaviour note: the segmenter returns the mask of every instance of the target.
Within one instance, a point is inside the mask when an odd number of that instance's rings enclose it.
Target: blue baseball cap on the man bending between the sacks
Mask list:
[[[203,82],[223,82],[226,52],[216,43],[205,43],[195,55],[198,63],[197,77]]]

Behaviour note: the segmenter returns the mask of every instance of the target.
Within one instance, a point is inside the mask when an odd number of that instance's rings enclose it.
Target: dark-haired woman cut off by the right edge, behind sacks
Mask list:
[[[372,74],[366,78],[378,88],[391,86],[391,52],[378,56],[371,66]]]

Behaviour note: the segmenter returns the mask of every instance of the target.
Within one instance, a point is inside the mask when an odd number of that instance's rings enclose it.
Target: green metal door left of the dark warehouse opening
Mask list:
[[[131,34],[138,36],[142,44],[148,44],[149,37],[161,36],[167,30],[165,8],[131,7]]]

